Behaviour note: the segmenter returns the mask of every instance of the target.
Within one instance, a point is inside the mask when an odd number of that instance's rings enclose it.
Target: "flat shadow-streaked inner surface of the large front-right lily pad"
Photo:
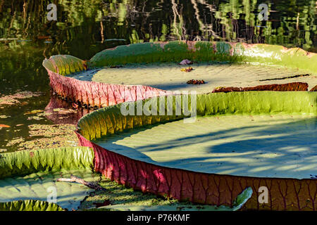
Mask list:
[[[135,160],[195,172],[304,179],[317,171],[315,115],[197,117],[97,139]]]

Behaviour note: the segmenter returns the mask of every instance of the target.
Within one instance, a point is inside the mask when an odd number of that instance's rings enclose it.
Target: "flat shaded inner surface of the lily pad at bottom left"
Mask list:
[[[37,172],[26,176],[13,176],[0,180],[0,202],[13,200],[50,200],[56,190],[56,204],[68,210],[77,210],[80,202],[94,189],[83,184],[57,182],[73,174],[85,181],[98,181],[99,176],[90,170],[65,170],[60,172]]]

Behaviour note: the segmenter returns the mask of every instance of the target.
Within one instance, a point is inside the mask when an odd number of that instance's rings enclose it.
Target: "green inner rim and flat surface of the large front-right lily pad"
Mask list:
[[[189,123],[165,111],[159,115],[162,99],[175,107],[176,97],[151,98],[147,105],[157,105],[156,115],[125,117],[123,105],[137,108],[138,103],[123,103],[82,117],[80,132],[104,149],[163,167],[297,179],[316,173],[316,93],[250,91],[196,98],[198,117]]]

